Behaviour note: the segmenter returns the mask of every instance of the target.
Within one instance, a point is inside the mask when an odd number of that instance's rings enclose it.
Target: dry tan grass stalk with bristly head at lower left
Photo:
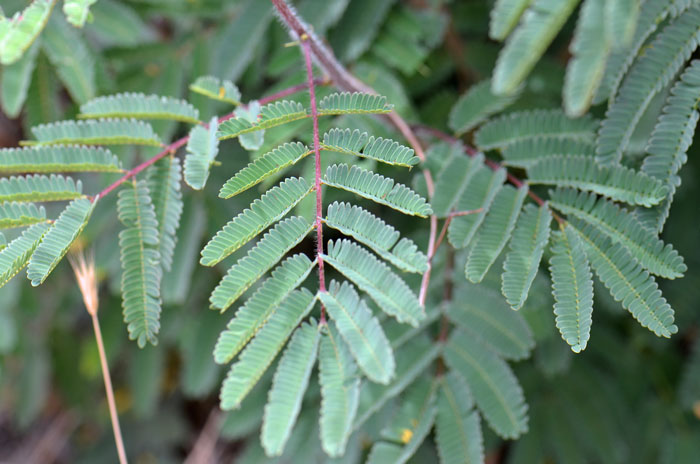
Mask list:
[[[95,273],[95,261],[92,257],[87,260],[82,253],[76,253],[69,256],[69,261],[73,267],[75,278],[78,281],[80,293],[83,295],[85,309],[87,309],[90,318],[92,319],[92,328],[95,332],[95,341],[97,343],[97,351],[100,355],[100,366],[102,367],[102,378],[105,383],[105,393],[107,395],[107,404],[109,406],[109,416],[112,421],[112,431],[114,432],[114,442],[117,446],[117,454],[119,455],[120,464],[127,464],[126,451],[124,450],[124,440],[122,439],[121,427],[119,427],[119,415],[117,414],[117,405],[114,401],[114,389],[112,388],[112,378],[109,375],[109,367],[107,365],[107,356],[105,355],[104,342],[102,341],[102,331],[100,323],[97,319],[97,309],[99,300],[97,297],[97,276]]]

